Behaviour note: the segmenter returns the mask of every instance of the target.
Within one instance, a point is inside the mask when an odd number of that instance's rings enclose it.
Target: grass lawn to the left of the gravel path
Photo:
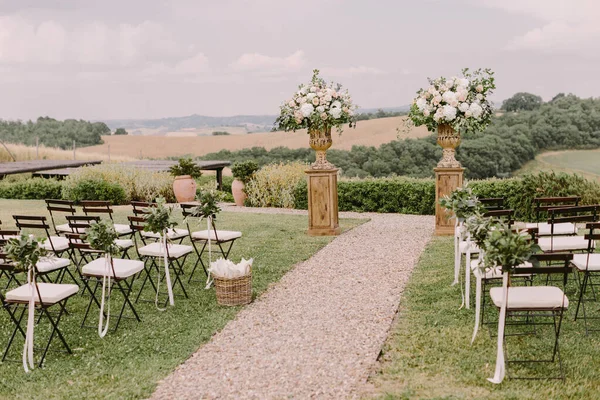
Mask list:
[[[126,223],[128,212],[128,208],[120,207],[115,213],[117,222]],[[40,201],[0,200],[0,219],[4,227],[14,226],[11,215],[17,213],[46,215]],[[178,218],[181,220],[180,214]],[[343,219],[340,225],[348,230],[365,221]],[[308,259],[333,239],[307,236],[305,216],[223,212],[218,216],[217,226],[243,232],[230,258],[239,261],[241,257],[254,257],[255,296],[277,282],[294,264]],[[188,258],[188,271],[194,261],[195,256]],[[202,278],[204,274],[200,272],[196,276]],[[153,298],[147,288],[148,285],[144,289],[145,297]],[[148,397],[158,380],[191,356],[241,309],[218,306],[214,289],[205,290],[203,283],[187,284],[186,289],[190,298],[176,297],[175,306],[166,312],[159,312],[153,303],[138,303],[136,308],[142,322],[124,320],[116,333],[109,332],[104,339],[98,337],[95,329],[79,326],[88,297],[71,298],[67,304],[70,315],[63,318],[60,326],[74,354],[50,352],[45,366],[29,374],[23,371],[20,362],[0,363],[0,398]],[[120,296],[115,295],[113,304],[118,304],[118,300]],[[97,308],[93,317],[88,319],[88,324],[97,324]],[[8,313],[0,310],[2,351],[12,328]],[[45,344],[41,339],[47,338],[47,328],[45,321],[36,327],[37,345]],[[12,359],[21,359],[22,346],[20,338],[11,349]],[[54,342],[54,348],[62,349],[59,341]],[[41,352],[36,351],[36,355],[39,357]]]

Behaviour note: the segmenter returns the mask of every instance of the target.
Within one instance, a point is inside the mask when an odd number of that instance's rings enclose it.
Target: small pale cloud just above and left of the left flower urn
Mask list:
[[[260,74],[282,74],[297,71],[306,63],[304,52],[298,50],[287,57],[272,57],[259,53],[246,53],[230,64],[231,69],[239,72],[258,72]]]

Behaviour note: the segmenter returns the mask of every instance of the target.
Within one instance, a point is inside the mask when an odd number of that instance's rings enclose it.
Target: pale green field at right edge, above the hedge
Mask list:
[[[600,149],[568,150],[543,153],[527,163],[516,174],[536,171],[578,173],[590,179],[600,181]]]

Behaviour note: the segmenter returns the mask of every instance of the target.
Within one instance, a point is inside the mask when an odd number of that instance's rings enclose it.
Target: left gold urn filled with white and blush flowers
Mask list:
[[[342,126],[356,126],[357,106],[347,90],[339,83],[326,83],[319,77],[319,70],[313,71],[310,83],[302,84],[294,96],[280,107],[274,130],[296,131],[307,129],[310,147],[317,152],[312,169],[333,169],[327,161],[327,149],[331,147],[331,128],[342,132]]]

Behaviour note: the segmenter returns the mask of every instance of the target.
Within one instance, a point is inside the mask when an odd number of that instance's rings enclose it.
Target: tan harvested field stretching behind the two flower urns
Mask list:
[[[333,134],[333,148],[350,150],[354,145],[379,146],[398,138],[397,128],[404,123],[405,117],[381,118],[360,121],[356,129],[345,128],[341,136]],[[335,130],[334,130],[335,132]],[[414,128],[401,137],[427,136],[424,127]],[[308,146],[305,131],[295,133],[268,132],[230,136],[105,136],[104,144],[80,149],[81,152],[106,153],[110,145],[111,155],[121,155],[135,158],[163,158],[182,156],[186,154],[201,156],[222,149],[240,150],[251,147],[284,146],[297,149]]]

